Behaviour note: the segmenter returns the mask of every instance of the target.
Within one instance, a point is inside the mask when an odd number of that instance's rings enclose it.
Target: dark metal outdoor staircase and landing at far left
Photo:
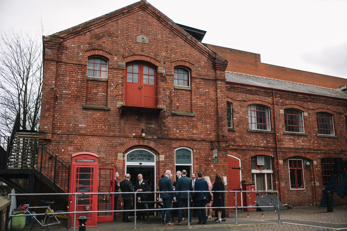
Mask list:
[[[0,136],[0,181],[20,193],[34,193],[36,176],[55,192],[67,193],[69,164],[39,142],[36,131],[18,130],[17,118],[11,136]],[[21,187],[17,179],[28,179],[28,187]]]

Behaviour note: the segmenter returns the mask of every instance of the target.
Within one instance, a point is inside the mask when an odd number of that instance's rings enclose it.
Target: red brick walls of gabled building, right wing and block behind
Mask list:
[[[149,43],[136,42],[140,34],[149,37]],[[67,162],[76,152],[92,152],[99,156],[99,166],[115,167],[123,178],[126,154],[135,149],[148,150],[156,158],[155,184],[158,186],[160,175],[166,169],[175,171],[175,149],[187,147],[192,149],[193,172],[202,171],[212,182],[216,174],[228,178],[229,155],[240,159],[240,180],[248,184],[252,183],[251,157],[264,155],[271,158],[272,185],[274,190],[281,190],[282,203],[318,205],[323,188],[321,158],[346,159],[345,99],[319,96],[308,99],[295,92],[231,84],[225,78],[227,70],[275,79],[281,76],[311,84],[318,74],[290,69],[287,71],[290,74],[282,75],[279,69],[264,69],[262,65],[268,64],[262,64],[257,54],[206,45],[216,54],[146,1],[45,36],[43,44],[40,139]],[[229,63],[218,54],[229,59]],[[108,61],[107,79],[87,78],[87,60],[91,56]],[[124,102],[126,65],[134,62],[156,68],[156,84],[166,88],[163,94],[167,99],[158,121],[155,111],[120,111]],[[175,67],[189,70],[189,87],[174,86]],[[299,76],[305,78],[296,78]],[[329,84],[321,81],[324,86],[331,86],[330,80],[340,81],[325,75],[319,79],[327,79]],[[343,84],[346,85],[345,80],[337,83]],[[232,103],[233,129],[228,129],[227,101]],[[158,107],[160,104],[158,100]],[[270,133],[247,131],[249,104],[270,108]],[[297,108],[305,113],[307,136],[283,133],[281,110],[286,108]],[[316,112],[326,110],[334,116],[338,138],[316,136]],[[280,178],[273,132],[275,117]],[[145,139],[140,133],[142,128],[147,132]],[[218,147],[217,163],[213,163],[211,142]],[[289,188],[288,159],[292,158],[314,162],[310,168],[303,169],[305,189]],[[346,199],[337,199],[335,203],[346,203]]]

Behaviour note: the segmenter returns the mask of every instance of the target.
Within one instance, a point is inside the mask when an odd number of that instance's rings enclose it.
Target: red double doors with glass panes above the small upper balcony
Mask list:
[[[146,64],[131,64],[126,70],[125,105],[156,108],[156,69]]]

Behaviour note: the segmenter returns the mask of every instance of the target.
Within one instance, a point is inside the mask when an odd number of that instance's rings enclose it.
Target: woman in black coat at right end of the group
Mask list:
[[[225,207],[225,193],[217,193],[213,191],[225,191],[224,179],[221,175],[216,175],[216,178],[213,183],[212,193],[213,193],[213,207]],[[222,211],[225,208],[214,208],[214,211],[217,211],[218,220],[217,223],[222,223]]]

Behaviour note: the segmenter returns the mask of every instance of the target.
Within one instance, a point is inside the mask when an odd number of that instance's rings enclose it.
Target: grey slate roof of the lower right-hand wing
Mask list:
[[[317,87],[303,83],[290,82],[279,79],[271,79],[256,75],[248,75],[236,72],[225,72],[227,82],[242,83],[257,87],[272,88],[278,90],[294,91],[298,93],[306,93],[312,95],[321,95],[335,98],[347,99],[347,92],[342,90]]]

